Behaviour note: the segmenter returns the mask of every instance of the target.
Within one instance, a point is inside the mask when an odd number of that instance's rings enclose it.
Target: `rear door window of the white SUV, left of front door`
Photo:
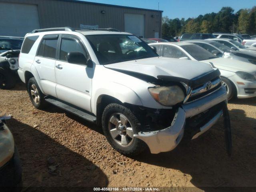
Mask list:
[[[58,39],[44,39],[39,47],[38,56],[56,58]]]

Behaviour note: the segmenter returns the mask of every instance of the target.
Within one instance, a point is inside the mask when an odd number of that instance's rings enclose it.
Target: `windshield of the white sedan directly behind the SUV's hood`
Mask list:
[[[198,61],[217,58],[214,54],[198,45],[182,45],[181,47]]]

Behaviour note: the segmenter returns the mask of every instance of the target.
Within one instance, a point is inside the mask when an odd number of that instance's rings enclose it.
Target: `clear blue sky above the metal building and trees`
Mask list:
[[[256,6],[256,0],[86,0],[90,2],[163,10],[169,18],[197,17],[218,12],[223,6],[232,7],[235,12],[241,8]]]

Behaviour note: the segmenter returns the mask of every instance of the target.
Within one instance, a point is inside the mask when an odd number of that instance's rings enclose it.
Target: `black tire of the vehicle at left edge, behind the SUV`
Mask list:
[[[0,89],[14,88],[16,77],[10,70],[0,67]]]

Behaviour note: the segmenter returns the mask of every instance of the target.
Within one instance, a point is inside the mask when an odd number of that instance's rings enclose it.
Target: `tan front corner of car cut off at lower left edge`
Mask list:
[[[8,127],[0,120],[0,167],[14,154],[14,139]]]

